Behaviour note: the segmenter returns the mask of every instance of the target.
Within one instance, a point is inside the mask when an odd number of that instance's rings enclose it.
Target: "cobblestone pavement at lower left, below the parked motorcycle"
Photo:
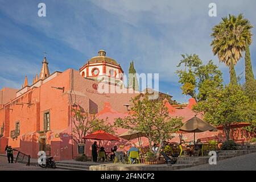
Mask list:
[[[26,166],[20,163],[8,163],[7,157],[0,156],[0,171],[58,171],[60,169],[42,168],[39,166]],[[62,171],[63,169],[61,169]]]

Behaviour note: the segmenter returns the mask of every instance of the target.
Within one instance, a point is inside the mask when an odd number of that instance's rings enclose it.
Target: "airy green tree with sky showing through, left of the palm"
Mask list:
[[[184,69],[176,71],[179,76],[179,82],[182,93],[189,95],[197,100],[205,100],[207,96],[216,88],[222,86],[222,73],[217,65],[210,60],[208,64],[203,65],[198,55],[181,55],[183,60],[177,65]]]

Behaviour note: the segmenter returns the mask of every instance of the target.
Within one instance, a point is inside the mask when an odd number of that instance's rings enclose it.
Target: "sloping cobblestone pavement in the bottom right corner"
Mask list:
[[[179,171],[256,171],[256,153],[217,161],[217,164],[180,169]]]

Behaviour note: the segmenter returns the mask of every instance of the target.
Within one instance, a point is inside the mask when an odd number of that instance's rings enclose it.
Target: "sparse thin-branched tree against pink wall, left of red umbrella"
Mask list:
[[[82,138],[97,130],[104,130],[112,134],[115,132],[107,119],[98,119],[96,114],[89,114],[81,110],[72,109],[72,122],[73,139],[77,144],[84,143]]]

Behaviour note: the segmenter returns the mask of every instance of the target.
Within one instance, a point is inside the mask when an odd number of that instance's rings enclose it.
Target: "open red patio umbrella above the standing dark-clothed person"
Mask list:
[[[112,134],[106,133],[103,130],[98,130],[92,134],[86,135],[83,139],[93,139],[93,140],[119,140],[118,137],[115,137]],[[101,144],[101,143],[100,143]]]

